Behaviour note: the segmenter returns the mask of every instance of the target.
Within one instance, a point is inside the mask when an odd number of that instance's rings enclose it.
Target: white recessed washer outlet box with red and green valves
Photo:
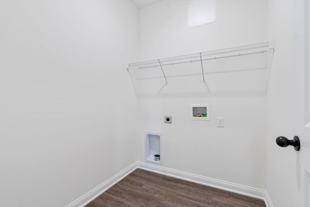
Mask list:
[[[209,104],[190,104],[190,120],[209,121]]]

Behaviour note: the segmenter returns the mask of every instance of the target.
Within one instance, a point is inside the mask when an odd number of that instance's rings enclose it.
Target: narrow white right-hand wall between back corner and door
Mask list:
[[[283,10],[279,10],[279,3]],[[268,36],[277,39],[276,52],[269,82],[267,98],[267,165],[266,190],[275,207],[293,207],[291,196],[293,182],[283,182],[286,177],[294,177],[295,151],[286,150],[275,144],[279,136],[292,138],[287,133],[292,127],[293,88],[286,81],[294,76],[293,49],[293,11],[292,1],[268,1]],[[277,110],[275,110],[277,109]],[[283,113],[283,111],[286,111]],[[287,131],[283,131],[285,126]],[[293,135],[294,136],[294,135]],[[284,159],[283,159],[284,158]],[[291,167],[290,167],[291,166]],[[285,177],[285,179],[284,179]],[[284,180],[283,180],[284,179]]]

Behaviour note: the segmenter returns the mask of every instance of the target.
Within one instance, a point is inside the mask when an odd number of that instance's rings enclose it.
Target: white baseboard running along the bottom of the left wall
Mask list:
[[[92,202],[96,197],[101,195],[103,192],[107,191],[109,188],[111,188],[113,185],[121,181],[125,176],[129,175],[132,173],[134,170],[136,170],[138,167],[137,162],[134,164],[130,165],[123,171],[119,172],[118,174],[114,175],[113,177],[109,178],[107,181],[103,182],[96,188],[94,188],[92,191],[89,191],[82,197],[78,198],[71,204],[69,204],[66,207],[84,207],[90,202]]]

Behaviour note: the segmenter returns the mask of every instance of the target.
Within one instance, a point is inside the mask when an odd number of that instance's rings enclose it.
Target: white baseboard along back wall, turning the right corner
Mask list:
[[[154,173],[159,173],[162,175],[168,175],[171,177],[187,180],[194,183],[199,183],[202,185],[214,187],[217,189],[225,190],[225,191],[231,191],[238,194],[250,196],[253,198],[261,199],[265,202],[266,207],[273,207],[272,203],[270,201],[270,198],[265,190],[252,188],[244,185],[239,185],[231,182],[226,182],[222,180],[217,180],[201,175],[195,175],[191,173],[186,173],[178,170],[173,170],[169,168],[165,168],[162,166],[157,166],[154,164],[149,164],[145,162],[138,162],[138,168],[151,171]],[[267,199],[268,198],[268,199]]]

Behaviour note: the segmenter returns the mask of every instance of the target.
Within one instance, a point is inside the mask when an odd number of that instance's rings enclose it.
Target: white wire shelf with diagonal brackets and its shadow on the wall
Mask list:
[[[275,41],[127,65],[137,96],[266,94]]]

